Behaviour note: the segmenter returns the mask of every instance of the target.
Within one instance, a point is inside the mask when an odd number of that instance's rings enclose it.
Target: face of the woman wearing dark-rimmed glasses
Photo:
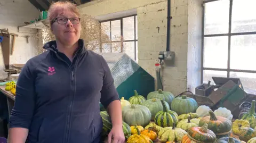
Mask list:
[[[63,10],[57,16],[59,23],[55,20],[52,24],[52,32],[62,44],[74,45],[81,35],[81,22],[77,24],[68,20],[66,23],[63,23],[65,18],[78,18],[78,16],[70,10]]]

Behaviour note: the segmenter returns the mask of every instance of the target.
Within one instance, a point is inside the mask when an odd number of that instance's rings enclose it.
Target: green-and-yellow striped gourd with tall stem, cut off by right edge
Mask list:
[[[252,100],[251,108],[248,113],[243,114],[242,119],[248,120],[251,128],[255,128],[256,126],[256,113],[255,113],[255,100]]]

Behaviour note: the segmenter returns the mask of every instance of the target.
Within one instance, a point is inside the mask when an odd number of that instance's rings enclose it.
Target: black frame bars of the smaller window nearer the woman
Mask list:
[[[129,18],[129,17],[131,17],[131,16],[133,16],[134,17],[134,39],[133,40],[120,40],[120,41],[112,41],[112,37],[111,37],[111,21],[115,21],[115,20],[120,20],[120,23],[121,23],[121,37],[123,37],[123,19],[124,18]],[[137,17],[137,19],[136,19],[136,17]],[[108,19],[108,20],[102,20],[102,21],[99,21],[100,22],[100,24],[102,23],[102,22],[109,22],[109,24],[110,24],[110,41],[109,41],[109,43],[110,43],[110,52],[112,52],[112,43],[122,43],[121,44],[121,49],[122,49],[122,46],[123,46],[123,43],[124,42],[130,42],[130,41],[132,41],[132,42],[134,42],[134,60],[135,61],[137,61],[137,46],[136,46],[136,42],[138,43],[138,38],[136,38],[136,36],[137,36],[137,32],[138,31],[136,31],[136,21],[138,22],[138,16],[137,16],[137,14],[132,14],[132,15],[128,15],[128,16],[123,16],[123,17],[119,17],[119,18],[115,18],[115,19]],[[104,42],[104,43],[106,43],[106,42]],[[103,42],[101,41],[101,44],[100,44],[100,52],[102,52],[102,44],[103,44]]]

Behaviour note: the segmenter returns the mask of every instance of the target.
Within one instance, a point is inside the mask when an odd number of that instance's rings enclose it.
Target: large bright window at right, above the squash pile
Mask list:
[[[214,76],[240,78],[246,91],[256,89],[255,5],[255,0],[204,2],[203,83],[213,83]]]

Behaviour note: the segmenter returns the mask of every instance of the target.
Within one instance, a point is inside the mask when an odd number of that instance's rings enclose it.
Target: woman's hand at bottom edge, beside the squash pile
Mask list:
[[[113,140],[113,142],[111,142]],[[125,137],[123,132],[123,124],[112,127],[108,134],[108,143],[124,143]]]

